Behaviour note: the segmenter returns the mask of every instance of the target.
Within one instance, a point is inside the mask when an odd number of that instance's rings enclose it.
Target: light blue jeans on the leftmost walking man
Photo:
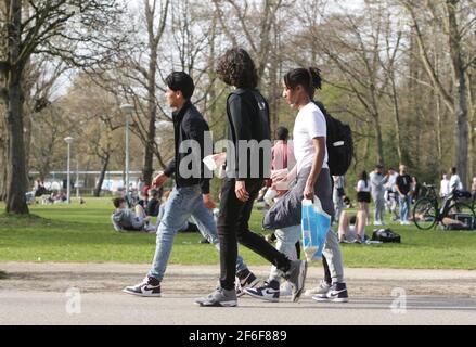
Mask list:
[[[213,213],[205,207],[200,185],[173,188],[164,208],[164,216],[157,229],[155,256],[150,277],[162,281],[173,246],[173,237],[190,217],[196,222],[200,232],[211,244],[219,247],[217,226]],[[236,257],[236,271],[246,269],[243,258]]]

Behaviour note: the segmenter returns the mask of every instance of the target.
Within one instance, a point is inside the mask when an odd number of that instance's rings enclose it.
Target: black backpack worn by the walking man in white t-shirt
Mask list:
[[[332,117],[320,101],[314,101],[322,111],[327,125],[329,168],[332,176],[344,176],[353,157],[353,141],[350,127]]]

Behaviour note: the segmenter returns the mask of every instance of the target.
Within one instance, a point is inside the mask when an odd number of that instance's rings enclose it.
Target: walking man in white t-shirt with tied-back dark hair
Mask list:
[[[301,202],[319,197],[323,209],[334,216],[332,182],[327,165],[326,121],[323,113],[312,101],[316,90],[321,88],[318,68],[296,68],[284,76],[283,97],[293,110],[298,111],[294,124],[293,141],[296,166],[287,174],[273,175],[275,188],[290,185],[290,190],[268,211],[263,219],[267,230],[283,230],[285,242],[294,244],[300,237]],[[346,303],[348,293],[344,283],[343,257],[337,235],[330,231],[324,246],[332,283],[312,296],[314,300]],[[329,278],[329,275],[326,275]],[[245,293],[265,300],[279,297],[275,272],[261,287],[245,288]]]

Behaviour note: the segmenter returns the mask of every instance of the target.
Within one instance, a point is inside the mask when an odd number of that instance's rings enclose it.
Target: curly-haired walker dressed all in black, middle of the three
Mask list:
[[[248,53],[240,48],[226,52],[219,60],[217,73],[236,89],[227,101],[229,147],[227,178],[221,187],[218,215],[220,239],[220,286],[210,295],[198,298],[200,306],[234,307],[237,242],[273,264],[292,285],[292,300],[297,301],[306,279],[307,262],[290,260],[262,236],[249,231],[253,203],[269,178],[271,141],[269,106],[256,89],[258,77]]]

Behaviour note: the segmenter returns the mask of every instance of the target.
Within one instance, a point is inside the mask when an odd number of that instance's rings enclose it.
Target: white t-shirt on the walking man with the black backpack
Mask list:
[[[326,136],[327,126],[325,124],[324,115],[313,102],[308,103],[299,111],[296,121],[294,123],[294,156],[296,157],[298,174],[301,169],[312,166],[316,157],[316,149],[312,139],[325,138]],[[327,147],[325,147],[322,168],[329,168]]]

